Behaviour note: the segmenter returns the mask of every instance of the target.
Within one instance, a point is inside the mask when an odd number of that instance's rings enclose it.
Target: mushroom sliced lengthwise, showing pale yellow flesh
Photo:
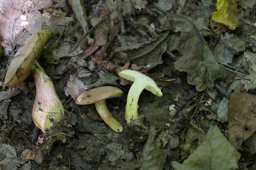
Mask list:
[[[138,100],[143,89],[146,89],[159,97],[163,96],[163,94],[152,78],[139,71],[122,70],[118,72],[118,75],[134,82],[128,92],[125,107],[125,119],[129,124],[131,119],[136,120],[139,118]]]

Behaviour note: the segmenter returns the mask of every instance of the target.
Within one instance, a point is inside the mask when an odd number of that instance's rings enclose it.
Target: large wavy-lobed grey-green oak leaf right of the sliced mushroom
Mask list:
[[[194,24],[179,15],[167,15],[175,22],[175,32],[180,32],[176,49],[182,56],[174,62],[175,69],[187,72],[188,83],[195,85],[197,91],[212,89],[215,79],[225,78],[225,70],[220,67]]]

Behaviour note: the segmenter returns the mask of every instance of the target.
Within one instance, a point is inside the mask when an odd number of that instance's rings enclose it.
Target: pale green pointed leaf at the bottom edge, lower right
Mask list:
[[[202,144],[182,164],[172,161],[175,170],[219,170],[238,168],[238,153],[217,126],[211,126]]]

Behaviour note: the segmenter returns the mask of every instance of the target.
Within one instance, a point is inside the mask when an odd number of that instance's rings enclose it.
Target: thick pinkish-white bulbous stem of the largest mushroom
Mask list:
[[[35,61],[31,73],[36,83],[36,99],[32,118],[36,126],[45,132],[53,122],[63,119],[64,107],[55,91],[52,80],[44,69]]]

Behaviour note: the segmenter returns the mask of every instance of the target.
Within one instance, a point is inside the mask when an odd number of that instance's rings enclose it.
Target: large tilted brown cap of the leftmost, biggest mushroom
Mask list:
[[[14,87],[28,77],[35,60],[39,58],[44,45],[51,37],[49,31],[39,31],[23,43],[8,67],[4,85]]]

